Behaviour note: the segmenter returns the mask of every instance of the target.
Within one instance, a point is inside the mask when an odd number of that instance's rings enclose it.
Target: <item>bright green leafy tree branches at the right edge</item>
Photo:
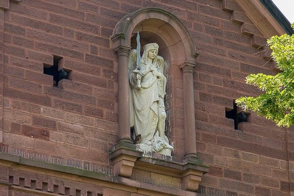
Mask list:
[[[236,103],[244,110],[273,120],[278,126],[289,127],[294,124],[294,34],[273,36],[268,40],[268,46],[281,72],[276,75],[248,75],[246,83],[264,93],[255,98],[238,98]]]

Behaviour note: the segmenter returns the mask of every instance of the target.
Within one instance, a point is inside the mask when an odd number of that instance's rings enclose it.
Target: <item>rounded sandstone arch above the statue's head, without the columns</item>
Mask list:
[[[182,22],[170,12],[159,8],[144,8],[126,15],[116,25],[112,43],[113,48],[131,47],[132,33],[150,32],[158,35],[168,48],[171,65],[195,63],[196,48],[190,34]],[[165,57],[165,56],[164,56]]]

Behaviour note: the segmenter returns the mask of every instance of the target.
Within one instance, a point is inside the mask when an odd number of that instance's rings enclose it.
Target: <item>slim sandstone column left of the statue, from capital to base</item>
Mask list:
[[[118,54],[118,102],[119,102],[119,143],[132,143],[130,137],[130,107],[128,82],[128,53],[130,47],[119,46]]]

